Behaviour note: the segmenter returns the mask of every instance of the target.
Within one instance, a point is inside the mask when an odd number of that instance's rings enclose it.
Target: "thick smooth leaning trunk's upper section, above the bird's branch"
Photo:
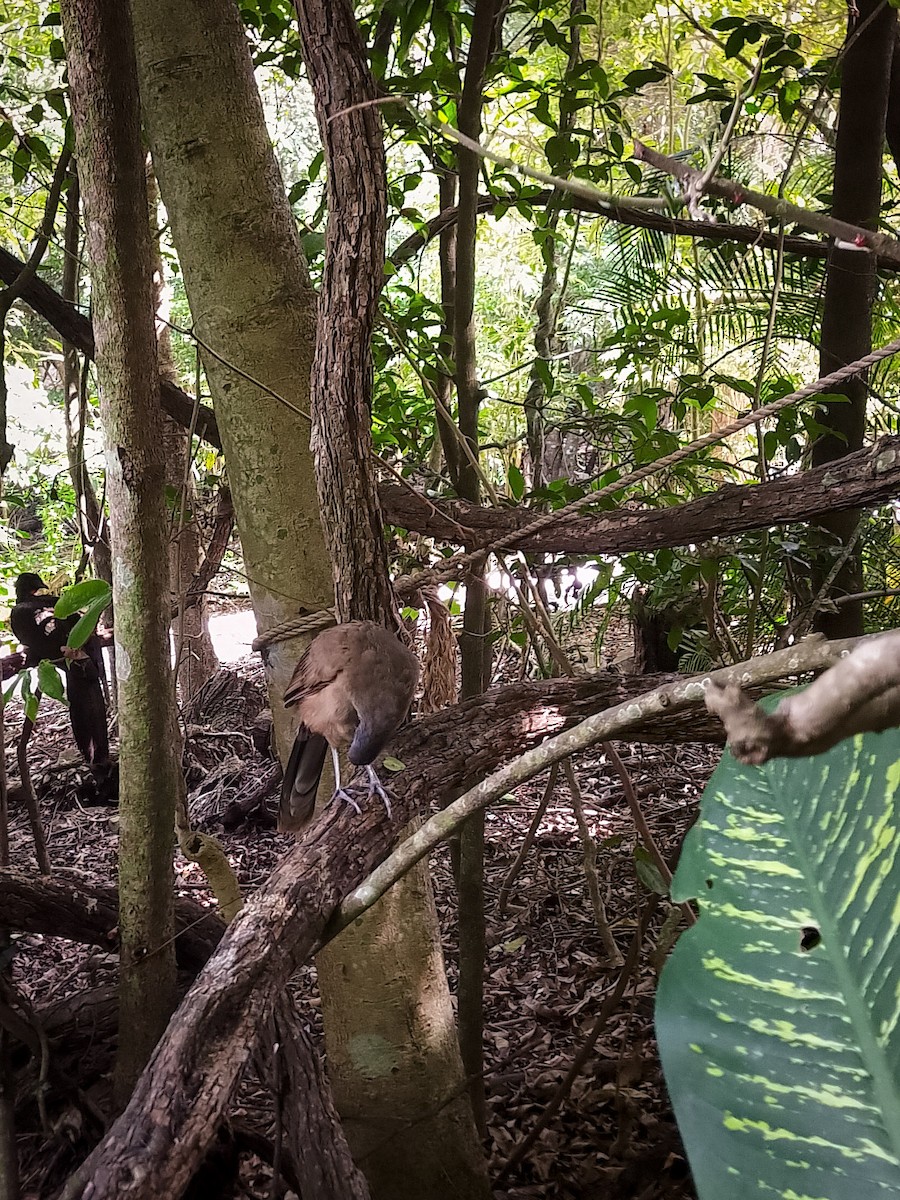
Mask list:
[[[332,601],[298,413],[310,406],[316,295],[233,0],[132,0],[132,11],[145,128],[263,632]],[[304,646],[295,637],[264,655],[282,755],[293,731],[281,696]]]

